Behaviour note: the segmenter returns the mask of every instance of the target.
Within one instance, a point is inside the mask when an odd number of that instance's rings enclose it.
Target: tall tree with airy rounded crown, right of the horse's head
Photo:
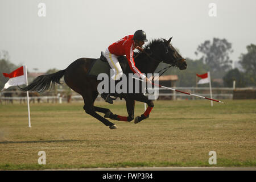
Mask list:
[[[206,40],[197,47],[196,55],[201,53],[203,63],[209,65],[210,73],[214,78],[222,78],[232,68],[232,60],[229,53],[232,53],[232,44],[226,39],[213,38],[213,42]]]

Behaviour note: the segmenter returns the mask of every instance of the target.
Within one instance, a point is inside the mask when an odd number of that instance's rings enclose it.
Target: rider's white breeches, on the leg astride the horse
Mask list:
[[[113,55],[112,53],[110,53],[108,48],[106,49],[105,56],[106,56],[106,59],[109,62],[110,67],[114,71],[114,75],[111,78],[113,80],[119,80],[123,75],[123,71],[122,71],[122,68],[121,68],[121,66],[119,64],[119,61],[117,59],[118,56]]]

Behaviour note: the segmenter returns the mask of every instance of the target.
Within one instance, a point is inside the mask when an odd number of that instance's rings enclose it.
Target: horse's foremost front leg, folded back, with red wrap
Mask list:
[[[137,116],[134,120],[134,123],[139,123],[143,119],[146,119],[149,117],[151,110],[154,107],[154,103],[152,100],[148,100],[147,96],[144,96],[144,94],[134,94],[134,100],[144,102],[147,104],[147,109],[144,111],[144,113],[141,116]]]

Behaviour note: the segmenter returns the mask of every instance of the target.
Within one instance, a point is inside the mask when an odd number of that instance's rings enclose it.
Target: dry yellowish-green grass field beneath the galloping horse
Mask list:
[[[256,166],[256,100],[155,101],[141,123],[114,121],[110,130],[90,117],[82,103],[0,105],[0,169],[163,166]],[[125,103],[97,101],[127,115]],[[136,102],[135,116],[144,105]],[[103,114],[102,114],[103,115]],[[46,165],[38,152],[46,152]],[[209,151],[217,164],[210,165]]]

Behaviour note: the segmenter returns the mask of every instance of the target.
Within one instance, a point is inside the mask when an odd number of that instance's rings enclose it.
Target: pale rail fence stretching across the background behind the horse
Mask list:
[[[183,92],[189,92],[189,93],[193,93],[193,94],[198,94],[200,96],[204,96],[204,97],[210,97],[210,90],[207,87],[176,87],[175,89],[177,90],[181,90]],[[253,88],[236,88],[237,90],[255,90]],[[55,91],[56,92],[56,91]],[[42,94],[42,96],[32,96],[30,97],[30,102],[54,102],[54,103],[63,103],[63,102],[68,102],[68,96],[65,95],[64,93],[67,92],[67,90],[61,90],[58,89],[57,90],[57,94],[53,92],[46,92],[44,94]],[[172,90],[167,90],[164,88],[159,88],[158,90],[158,100],[197,100],[197,99],[201,99],[198,97],[194,97],[194,96],[188,96],[186,94],[181,94],[181,93],[176,93],[175,91]],[[16,96],[12,96],[12,97],[5,97],[5,93],[12,93],[13,95]],[[21,91],[3,91],[0,92],[0,104],[3,103],[13,103],[14,101],[18,101],[20,103],[25,102],[26,101],[26,97],[18,97],[18,95],[22,93]],[[23,92],[24,93],[24,92]],[[46,94],[50,95],[50,96],[46,96]],[[233,94],[234,94],[234,89],[233,88],[212,88],[212,95],[214,99],[233,99]],[[146,93],[146,95],[148,95]],[[100,95],[98,96],[97,100],[101,100]],[[72,97],[71,97],[71,102],[82,102],[82,96],[80,96],[79,94],[77,94],[76,92],[72,91]]]

